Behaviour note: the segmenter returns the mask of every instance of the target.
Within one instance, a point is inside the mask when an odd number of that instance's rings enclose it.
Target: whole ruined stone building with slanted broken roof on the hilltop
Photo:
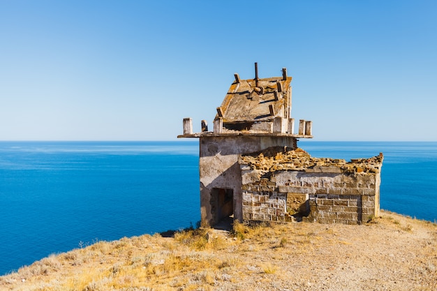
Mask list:
[[[214,129],[184,134],[200,139],[200,213],[215,225],[233,216],[239,221],[311,221],[357,224],[379,215],[383,156],[344,160],[313,158],[297,147],[311,138],[311,121],[291,112],[292,78],[235,81],[217,107]]]

